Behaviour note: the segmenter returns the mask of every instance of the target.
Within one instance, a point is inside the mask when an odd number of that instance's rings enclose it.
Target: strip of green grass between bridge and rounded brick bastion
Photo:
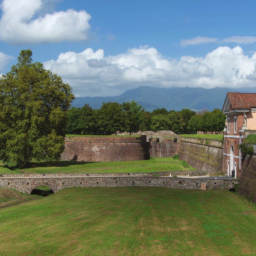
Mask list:
[[[8,170],[8,169],[7,169]],[[32,162],[29,168],[16,170],[19,173],[117,173],[158,172],[194,170],[186,162],[171,157],[124,162]]]

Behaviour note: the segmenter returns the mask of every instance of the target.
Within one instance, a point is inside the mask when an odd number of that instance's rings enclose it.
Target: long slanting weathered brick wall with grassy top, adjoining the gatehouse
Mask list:
[[[223,147],[220,141],[180,138],[179,158],[198,171],[224,173]]]

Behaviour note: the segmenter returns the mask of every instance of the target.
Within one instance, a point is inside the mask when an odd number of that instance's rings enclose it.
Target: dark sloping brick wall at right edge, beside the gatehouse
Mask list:
[[[254,154],[246,155],[240,177],[239,193],[256,203],[256,146]]]

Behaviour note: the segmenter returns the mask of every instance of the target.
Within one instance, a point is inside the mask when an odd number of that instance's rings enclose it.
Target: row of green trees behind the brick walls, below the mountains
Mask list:
[[[172,130],[176,134],[197,131],[222,131],[225,115],[219,109],[195,112],[190,109],[145,111],[137,102],[103,102],[99,110],[88,104],[67,112],[67,134],[108,135],[117,131],[133,132]]]

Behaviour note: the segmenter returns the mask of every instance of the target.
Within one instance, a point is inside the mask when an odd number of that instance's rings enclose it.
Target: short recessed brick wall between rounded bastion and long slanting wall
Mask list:
[[[173,157],[179,154],[179,143],[175,143],[173,139],[162,139],[159,142],[157,139],[149,140],[150,157]]]

